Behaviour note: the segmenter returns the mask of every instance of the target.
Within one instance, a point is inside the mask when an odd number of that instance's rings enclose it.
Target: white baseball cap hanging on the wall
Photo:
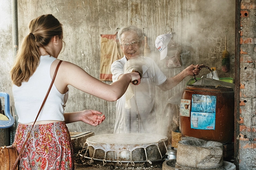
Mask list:
[[[164,59],[168,52],[168,44],[171,41],[173,34],[163,34],[161,36],[156,37],[155,45],[158,51],[160,52],[160,60]]]

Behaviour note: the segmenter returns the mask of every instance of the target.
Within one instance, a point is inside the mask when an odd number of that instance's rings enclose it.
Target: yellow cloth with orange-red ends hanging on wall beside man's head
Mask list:
[[[112,81],[111,65],[124,54],[116,34],[101,34],[100,37],[100,80]]]

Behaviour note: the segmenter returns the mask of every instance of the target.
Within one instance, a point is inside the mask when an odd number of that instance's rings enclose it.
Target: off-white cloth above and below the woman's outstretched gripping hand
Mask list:
[[[141,58],[137,59],[129,59],[125,63],[125,73],[131,73],[133,71],[138,71],[140,75],[142,75],[143,70],[143,60]],[[132,84],[130,83],[126,92],[125,92],[125,109],[130,109],[131,108],[131,98],[134,96],[134,92],[132,90]]]

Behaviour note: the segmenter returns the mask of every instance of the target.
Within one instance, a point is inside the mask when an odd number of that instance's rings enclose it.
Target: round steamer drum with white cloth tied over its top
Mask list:
[[[86,139],[91,160],[123,163],[163,162],[168,138],[157,134],[101,134]],[[87,152],[87,151],[86,151]]]

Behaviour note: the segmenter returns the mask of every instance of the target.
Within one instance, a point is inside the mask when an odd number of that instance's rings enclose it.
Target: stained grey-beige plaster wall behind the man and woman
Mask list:
[[[9,4],[9,0],[3,0]],[[2,1],[1,1],[2,3]],[[2,4],[1,4],[2,8]],[[7,9],[3,9],[7,10]],[[10,14],[10,9],[7,10]],[[148,37],[152,57],[167,76],[178,74],[190,64],[204,64],[216,67],[219,77],[234,78],[234,63],[231,60],[230,72],[221,71],[221,54],[227,35],[227,50],[234,56],[235,49],[235,0],[19,0],[19,42],[29,33],[28,22],[42,14],[53,14],[63,24],[66,47],[59,55],[62,60],[81,66],[90,75],[99,78],[100,34],[115,34],[117,28],[134,24],[144,28]],[[3,17],[3,15],[1,15]],[[12,34],[9,23],[1,24],[0,47],[0,90],[12,96],[9,77],[14,56],[12,54]],[[5,32],[2,32],[3,31]],[[182,67],[164,68],[159,61],[159,52],[154,42],[157,36],[173,31],[173,40],[182,45]],[[208,73],[202,70],[201,75]],[[185,78],[168,92],[157,88],[159,130],[166,133],[168,117],[162,110],[167,100],[183,90]],[[106,82],[111,83],[111,82]],[[66,111],[95,109],[106,115],[106,120],[97,127],[77,122],[69,124],[70,131],[93,131],[95,134],[112,133],[115,121],[116,102],[106,102],[92,95],[70,88]],[[11,105],[14,108],[11,97]]]

